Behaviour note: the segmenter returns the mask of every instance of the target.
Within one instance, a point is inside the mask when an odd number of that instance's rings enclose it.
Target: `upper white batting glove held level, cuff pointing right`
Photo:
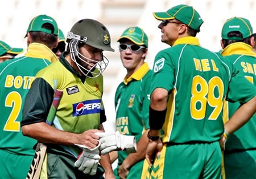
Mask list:
[[[137,150],[134,135],[123,135],[119,131],[109,133],[94,133],[100,137],[100,151],[102,155],[112,151],[126,150],[129,154]]]

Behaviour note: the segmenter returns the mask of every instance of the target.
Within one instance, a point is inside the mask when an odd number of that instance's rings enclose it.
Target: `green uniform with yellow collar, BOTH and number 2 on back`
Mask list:
[[[21,133],[22,108],[39,70],[57,58],[46,45],[32,43],[23,57],[0,63],[0,176],[26,178],[36,140]]]

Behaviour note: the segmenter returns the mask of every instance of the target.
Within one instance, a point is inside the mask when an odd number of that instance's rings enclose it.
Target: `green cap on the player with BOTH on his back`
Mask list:
[[[27,28],[27,32],[46,32],[52,34],[51,30],[42,27],[42,25],[45,23],[50,23],[53,25],[53,35],[59,35],[59,28],[56,21],[48,15],[39,15],[32,19],[30,25]]]

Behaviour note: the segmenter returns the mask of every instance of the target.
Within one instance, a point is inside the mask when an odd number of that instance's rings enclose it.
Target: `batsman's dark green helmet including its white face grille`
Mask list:
[[[68,32],[67,42],[72,61],[76,63],[81,73],[89,78],[96,78],[102,74],[108,66],[109,60],[103,54],[101,61],[83,56],[79,52],[79,44],[82,42],[97,49],[114,52],[110,46],[108,29],[93,19],[82,19],[75,23],[71,31]]]

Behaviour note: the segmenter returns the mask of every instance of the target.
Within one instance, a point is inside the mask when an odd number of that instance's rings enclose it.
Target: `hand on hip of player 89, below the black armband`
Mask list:
[[[146,159],[147,163],[152,166],[152,161],[155,159],[155,157],[158,157],[160,155],[160,152],[163,148],[163,142],[161,139],[158,140],[148,140],[147,144],[147,150],[146,150]]]

